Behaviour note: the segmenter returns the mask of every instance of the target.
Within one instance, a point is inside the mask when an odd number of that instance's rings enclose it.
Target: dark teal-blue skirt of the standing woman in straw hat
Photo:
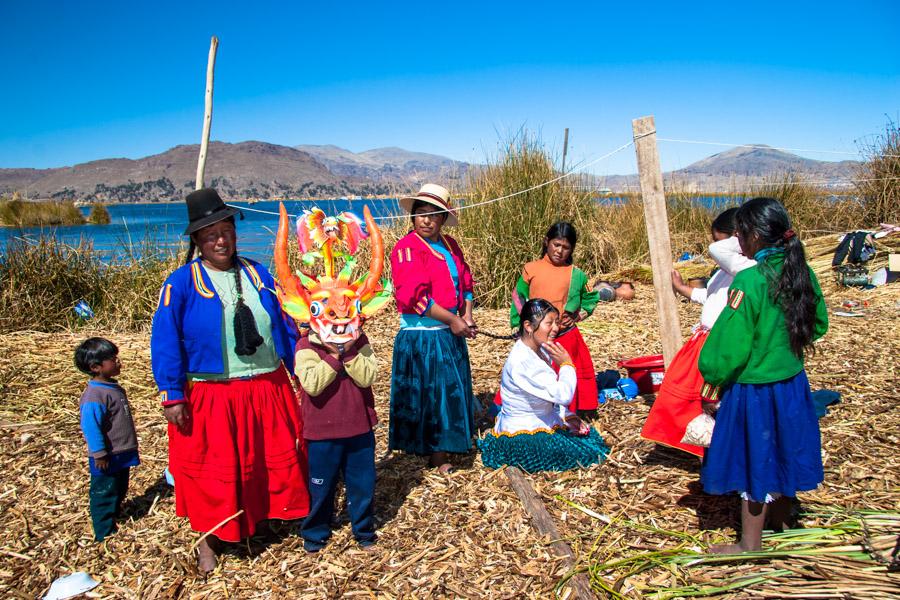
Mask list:
[[[465,338],[401,329],[391,371],[391,450],[425,456],[472,449],[475,397]]]

